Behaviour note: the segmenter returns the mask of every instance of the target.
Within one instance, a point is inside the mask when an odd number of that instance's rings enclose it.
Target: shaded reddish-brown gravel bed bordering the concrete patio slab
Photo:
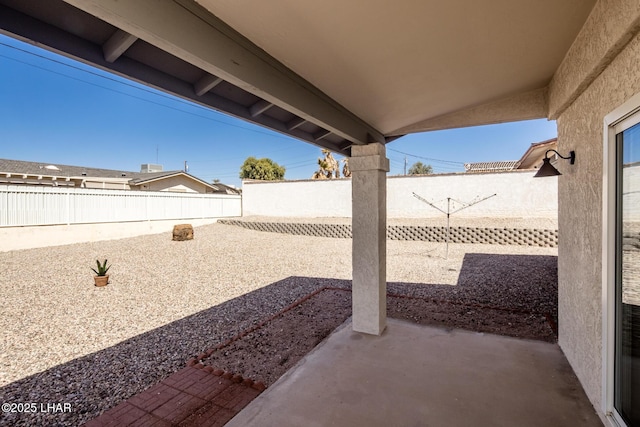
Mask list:
[[[555,342],[548,313],[388,295],[387,315],[422,325]],[[350,289],[322,288],[242,332],[198,362],[273,384],[351,316]]]

